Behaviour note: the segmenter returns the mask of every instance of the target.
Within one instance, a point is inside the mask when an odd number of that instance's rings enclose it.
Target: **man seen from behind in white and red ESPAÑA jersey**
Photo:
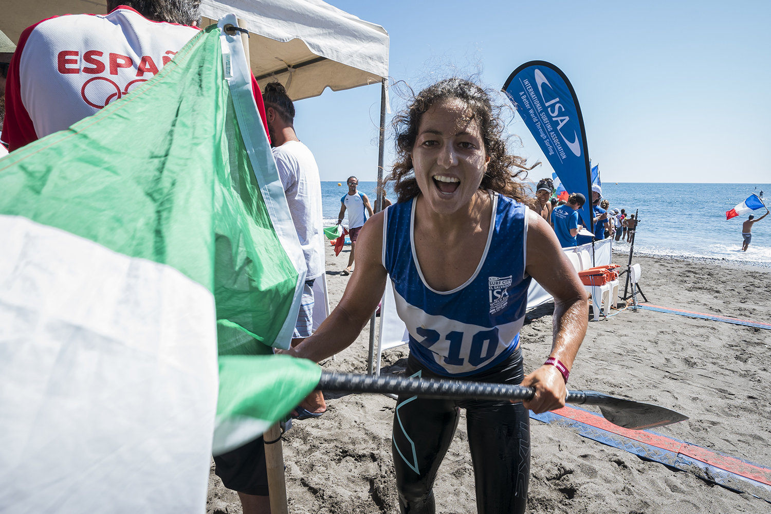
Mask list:
[[[198,33],[199,4],[107,0],[107,15],[55,16],[25,29],[8,69],[8,149],[66,129],[156,76]]]

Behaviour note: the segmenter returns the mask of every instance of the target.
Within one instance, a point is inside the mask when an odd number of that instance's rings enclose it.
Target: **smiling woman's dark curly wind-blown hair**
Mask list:
[[[396,162],[385,183],[393,182],[396,201],[403,202],[420,193],[412,168],[412,146],[418,136],[418,127],[423,113],[436,102],[459,99],[470,109],[470,119],[476,119],[480,126],[484,149],[490,156],[487,173],[482,178],[480,189],[493,190],[518,202],[532,203],[526,188],[520,180],[527,176],[526,161],[520,156],[508,153],[508,137],[501,119],[501,107],[493,105],[490,93],[466,79],[444,79],[429,86],[413,97],[412,102],[392,122],[396,133]],[[537,164],[536,164],[537,165]]]

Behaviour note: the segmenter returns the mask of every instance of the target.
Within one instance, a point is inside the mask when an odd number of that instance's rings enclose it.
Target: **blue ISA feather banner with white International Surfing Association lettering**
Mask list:
[[[579,213],[584,220],[591,220],[591,168],[586,131],[571,82],[550,62],[530,61],[513,71],[503,91],[524,119],[567,193],[581,193],[586,197]]]

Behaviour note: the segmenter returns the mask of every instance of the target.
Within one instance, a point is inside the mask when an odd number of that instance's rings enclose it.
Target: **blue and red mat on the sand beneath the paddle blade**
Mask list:
[[[634,453],[643,459],[693,473],[707,482],[737,492],[746,492],[771,503],[771,468],[649,430],[621,428],[601,415],[582,408],[566,405],[543,414],[530,412],[530,418],[574,428],[585,438]]]

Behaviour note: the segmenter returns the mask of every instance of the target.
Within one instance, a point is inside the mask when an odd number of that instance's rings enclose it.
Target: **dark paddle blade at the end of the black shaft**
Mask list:
[[[584,401],[574,401],[574,403],[597,405],[605,419],[614,425],[629,428],[630,430],[645,430],[647,428],[672,425],[672,423],[688,419],[688,416],[668,408],[642,403],[641,401],[615,398],[614,396],[603,395],[598,391],[571,391],[571,393],[583,393],[586,395]]]

